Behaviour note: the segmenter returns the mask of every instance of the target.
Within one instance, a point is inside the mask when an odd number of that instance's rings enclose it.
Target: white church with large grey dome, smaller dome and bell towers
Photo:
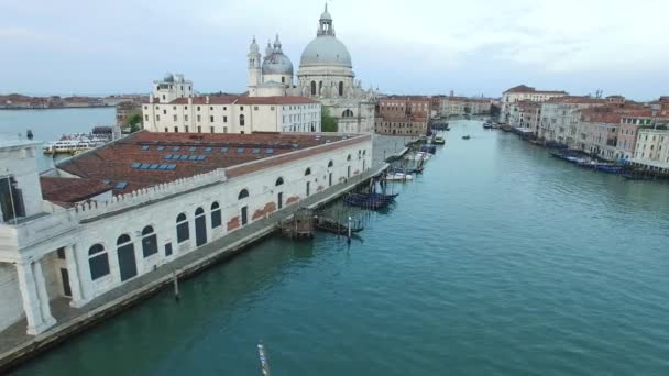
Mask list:
[[[310,97],[328,108],[339,132],[373,133],[376,92],[362,89],[355,79],[351,55],[337,38],[327,4],[318,20],[316,38],[299,59],[296,85],[293,63],[283,53],[278,35],[273,46],[267,43],[262,62],[255,38],[249,49],[249,96]]]

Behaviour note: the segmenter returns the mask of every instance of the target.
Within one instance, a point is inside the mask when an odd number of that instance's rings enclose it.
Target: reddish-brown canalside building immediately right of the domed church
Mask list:
[[[375,131],[388,135],[425,135],[432,113],[429,97],[392,96],[379,99]]]

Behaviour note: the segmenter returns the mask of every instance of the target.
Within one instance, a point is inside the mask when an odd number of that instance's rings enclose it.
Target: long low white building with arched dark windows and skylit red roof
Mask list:
[[[37,147],[0,144],[0,330],[33,335],[372,162],[371,135],[142,131],[39,176]]]

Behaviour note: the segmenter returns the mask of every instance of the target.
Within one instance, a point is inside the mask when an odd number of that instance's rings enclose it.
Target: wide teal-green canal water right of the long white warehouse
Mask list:
[[[362,241],[270,239],[15,375],[260,375],[260,339],[274,376],[669,374],[669,186],[452,126]]]

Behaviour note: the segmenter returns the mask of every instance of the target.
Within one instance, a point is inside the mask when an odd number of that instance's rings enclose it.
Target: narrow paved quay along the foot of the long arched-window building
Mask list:
[[[326,206],[355,187],[365,185],[370,178],[382,174],[385,169],[386,165],[382,164],[343,184],[305,198],[299,201],[299,204],[268,214],[264,219],[198,247],[165,266],[96,298],[83,308],[69,307],[66,299],[53,301],[53,313],[58,322],[55,328],[40,335],[31,336],[25,334],[26,323],[25,320],[22,320],[0,333],[0,372],[14,367],[67,338],[123,312],[133,305],[141,303],[145,298],[175,284],[174,279],[189,278],[217,263],[233,257],[274,233],[277,223],[289,219],[299,208],[317,209]]]

